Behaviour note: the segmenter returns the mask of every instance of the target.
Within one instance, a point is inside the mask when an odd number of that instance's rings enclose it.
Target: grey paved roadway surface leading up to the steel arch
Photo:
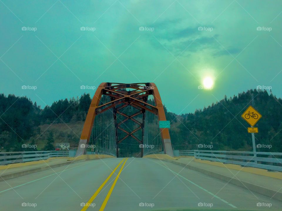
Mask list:
[[[81,206],[87,202],[89,207]],[[115,211],[203,208],[198,203],[214,209],[261,208],[257,203],[271,203],[273,210],[282,207],[281,201],[248,189],[176,164],[146,158],[83,161],[0,182],[1,211],[100,210],[101,206],[102,210],[104,206],[104,210]]]

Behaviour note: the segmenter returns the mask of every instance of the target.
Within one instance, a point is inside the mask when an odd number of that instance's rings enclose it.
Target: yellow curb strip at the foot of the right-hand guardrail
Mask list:
[[[211,162],[211,161],[200,160],[200,159],[194,159],[194,161],[198,163],[204,163],[204,164],[209,164],[213,166],[219,166],[219,167],[224,167],[228,169],[235,169],[238,171],[244,171],[244,172],[254,173],[254,174],[258,174],[262,176],[282,179],[282,172],[271,172],[271,171],[267,171],[266,169],[259,169],[259,168],[253,168],[253,167],[242,167],[240,165],[235,165],[235,164],[223,164],[220,162]]]

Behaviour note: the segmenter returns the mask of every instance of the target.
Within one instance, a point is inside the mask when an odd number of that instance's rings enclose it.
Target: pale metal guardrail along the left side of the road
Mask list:
[[[46,160],[50,157],[69,156],[68,151],[0,152],[0,165]]]

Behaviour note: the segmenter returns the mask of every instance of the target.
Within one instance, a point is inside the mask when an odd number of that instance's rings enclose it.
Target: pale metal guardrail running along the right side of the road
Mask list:
[[[179,156],[282,172],[282,153],[278,152],[183,150]]]

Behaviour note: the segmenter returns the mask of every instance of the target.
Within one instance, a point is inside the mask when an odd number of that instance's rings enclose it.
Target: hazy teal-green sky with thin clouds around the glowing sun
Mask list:
[[[1,0],[0,92],[45,107],[93,97],[102,82],[153,82],[176,114],[258,86],[281,97],[281,10],[280,0]]]

